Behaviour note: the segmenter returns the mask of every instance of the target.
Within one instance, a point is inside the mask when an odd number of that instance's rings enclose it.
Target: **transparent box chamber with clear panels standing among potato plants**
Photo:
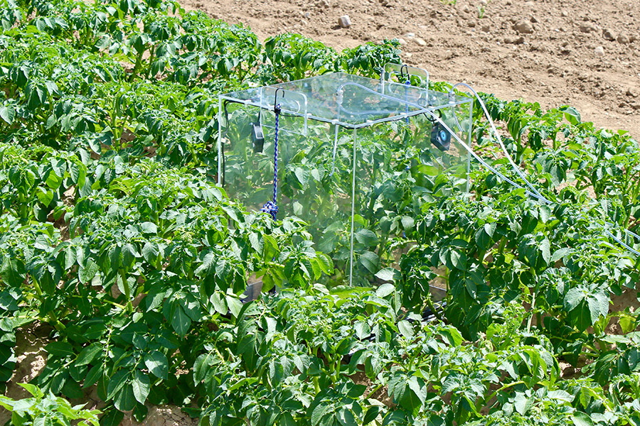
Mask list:
[[[468,185],[469,154],[439,120],[471,146],[473,100],[428,78],[387,64],[380,80],[336,72],[220,94],[219,182],[247,209],[304,220],[332,279],[366,285],[393,264],[388,241],[420,212],[420,188],[444,173]]]

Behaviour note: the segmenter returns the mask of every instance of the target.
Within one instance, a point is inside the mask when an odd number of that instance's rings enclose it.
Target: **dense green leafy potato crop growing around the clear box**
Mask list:
[[[38,329],[38,395],[95,391],[105,426],[167,403],[202,426],[640,425],[638,314],[611,304],[635,296],[639,263],[605,232],[638,249],[629,134],[482,95],[546,203],[475,164],[466,192],[466,170],[420,145],[428,126],[361,132],[347,288],[350,134],[335,170],[326,129],[283,151],[299,206],[274,222],[225,191],[262,197],[268,156],[255,182],[218,185],[217,93],[377,77],[398,43],[262,45],[156,0],[0,0],[0,26],[3,387]],[[519,181],[474,111],[474,148]]]

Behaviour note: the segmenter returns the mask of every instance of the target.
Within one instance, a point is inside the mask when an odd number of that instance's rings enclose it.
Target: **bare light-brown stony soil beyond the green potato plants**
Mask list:
[[[260,40],[301,33],[336,50],[398,38],[432,80],[501,99],[570,104],[640,138],[638,0],[182,0]],[[349,28],[338,26],[348,15]]]

